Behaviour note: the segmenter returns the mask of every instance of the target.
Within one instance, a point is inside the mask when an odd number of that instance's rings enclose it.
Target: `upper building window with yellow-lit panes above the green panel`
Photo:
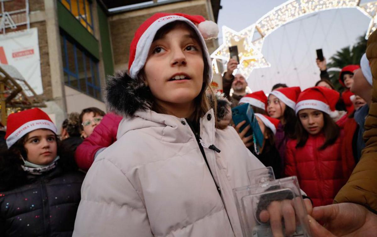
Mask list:
[[[60,2],[93,34],[92,8],[88,0],[60,0]]]

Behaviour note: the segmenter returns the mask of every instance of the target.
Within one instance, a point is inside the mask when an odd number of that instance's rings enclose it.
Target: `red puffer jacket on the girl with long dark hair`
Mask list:
[[[287,143],[285,175],[297,176],[300,188],[313,200],[314,206],[332,204],[346,182],[342,172],[341,137],[324,150],[318,150],[325,142],[323,133],[309,135],[304,147],[296,148],[296,140]]]

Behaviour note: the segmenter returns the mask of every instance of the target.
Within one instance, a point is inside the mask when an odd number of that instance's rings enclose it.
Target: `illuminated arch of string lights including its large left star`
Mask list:
[[[238,46],[240,66],[239,70],[248,77],[254,68],[269,67],[270,63],[262,55],[264,38],[284,24],[299,17],[314,12],[336,9],[356,8],[371,19],[365,38],[377,29],[377,1],[359,4],[360,0],[290,0],[277,6],[255,24],[248,26],[240,32],[223,26],[223,44],[211,54],[212,58],[223,60],[226,63],[230,58],[229,46]],[[255,31],[256,30],[256,31]],[[260,37],[253,40],[254,32]]]

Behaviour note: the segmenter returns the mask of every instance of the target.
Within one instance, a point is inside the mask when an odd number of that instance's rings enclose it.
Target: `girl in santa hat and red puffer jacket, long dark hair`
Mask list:
[[[342,171],[341,131],[332,117],[339,93],[311,87],[300,93],[296,104],[297,138],[287,143],[285,174],[297,176],[300,187],[314,206],[333,203],[346,179]]]

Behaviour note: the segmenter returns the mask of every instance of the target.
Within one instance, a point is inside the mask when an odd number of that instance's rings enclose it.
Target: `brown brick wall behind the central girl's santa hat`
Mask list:
[[[191,15],[202,15],[206,19],[208,19],[208,13],[205,4],[169,9],[164,12],[182,12]],[[128,67],[129,48],[133,35],[135,34],[135,31],[136,29],[138,29],[140,24],[143,23],[147,18],[155,14],[155,11],[153,11],[152,8],[149,14],[138,15],[135,17],[127,17],[127,14],[129,14],[128,12],[122,14],[124,14],[124,18],[122,18],[121,14],[114,17],[114,20],[110,18],[110,35],[113,46],[112,48],[114,64],[127,64]],[[215,46],[212,40],[208,40],[206,44],[210,52],[213,52],[215,50]]]

